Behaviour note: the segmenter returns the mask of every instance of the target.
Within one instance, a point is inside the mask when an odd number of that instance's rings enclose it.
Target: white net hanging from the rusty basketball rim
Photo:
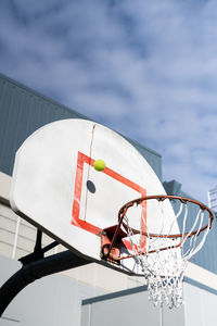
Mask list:
[[[146,218],[143,216],[143,222],[146,223],[143,248],[140,243],[141,237],[144,236],[135,234],[127,215],[124,216],[123,222],[135,260],[148,280],[150,300],[154,305],[163,306],[166,303],[169,308],[178,308],[183,302],[182,281],[187,263],[202,248],[212,221],[209,218],[208,224],[205,224],[207,218],[204,217],[207,216],[200,205],[178,201],[179,206],[177,203],[175,204],[177,213],[174,213],[174,218],[168,222],[168,218],[165,217],[167,209],[164,209],[166,201],[168,199],[158,201],[157,217],[161,223],[158,223],[157,233],[153,234],[149,230]],[[194,216],[192,216],[192,212],[194,212]],[[177,234],[174,234],[177,226],[180,229],[178,237]],[[204,226],[207,227],[204,228]]]

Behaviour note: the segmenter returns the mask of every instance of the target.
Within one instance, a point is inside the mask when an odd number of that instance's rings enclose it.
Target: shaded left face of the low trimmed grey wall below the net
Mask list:
[[[135,288],[82,301],[81,326],[184,326],[184,309],[161,310],[149,301],[146,287]]]

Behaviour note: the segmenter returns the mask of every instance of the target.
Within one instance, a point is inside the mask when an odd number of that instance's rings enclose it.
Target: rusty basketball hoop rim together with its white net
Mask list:
[[[127,217],[129,209],[146,208],[151,201],[158,202],[156,215],[148,216],[149,221],[142,216],[145,231],[135,229]],[[167,218],[168,204],[174,209],[170,221]],[[157,218],[158,229],[150,227],[150,218]],[[203,247],[213,220],[212,211],[196,200],[166,195],[138,198],[119,210],[118,225],[104,259],[120,262],[133,258],[148,280],[149,298],[153,304],[163,306],[166,303],[169,308],[177,308],[183,301],[182,280],[187,263]],[[127,235],[131,249],[130,254],[122,256],[115,243],[123,233]]]

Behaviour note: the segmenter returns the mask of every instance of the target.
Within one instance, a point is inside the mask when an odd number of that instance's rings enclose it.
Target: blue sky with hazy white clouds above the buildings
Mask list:
[[[217,185],[216,0],[1,0],[0,72]]]

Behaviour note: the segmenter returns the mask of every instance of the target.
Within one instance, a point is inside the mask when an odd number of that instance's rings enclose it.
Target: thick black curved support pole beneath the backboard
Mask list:
[[[16,294],[36,279],[91,262],[66,250],[24,265],[0,288],[0,316]]]

